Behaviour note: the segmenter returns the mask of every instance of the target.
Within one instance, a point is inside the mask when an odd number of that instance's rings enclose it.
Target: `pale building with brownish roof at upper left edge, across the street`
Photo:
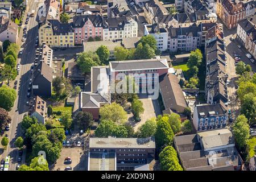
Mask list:
[[[18,43],[19,30],[18,24],[12,22],[6,16],[0,17],[0,41],[9,40],[12,43]]]

